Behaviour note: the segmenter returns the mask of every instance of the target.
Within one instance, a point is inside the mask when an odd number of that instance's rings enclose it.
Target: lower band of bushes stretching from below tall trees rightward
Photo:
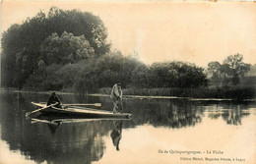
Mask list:
[[[175,74],[173,74],[175,73]],[[85,93],[121,81],[127,87],[200,87],[207,84],[203,69],[169,62],[146,66],[131,56],[111,52],[63,67],[42,65],[26,82],[27,88]]]

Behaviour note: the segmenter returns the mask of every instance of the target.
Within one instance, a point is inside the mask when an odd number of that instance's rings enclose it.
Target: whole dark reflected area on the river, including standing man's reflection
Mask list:
[[[116,150],[124,129],[151,125],[155,128],[182,129],[203,124],[205,116],[222,118],[228,125],[241,125],[248,116],[250,103],[201,102],[188,100],[124,99],[124,112],[132,119],[81,121],[71,124],[65,121],[45,120],[31,122],[25,118],[32,111],[31,102],[46,101],[47,94],[1,93],[0,123],[1,139],[6,140],[10,150],[20,150],[36,162],[47,163],[92,163],[103,157],[103,137],[110,137]],[[65,103],[100,102],[103,110],[111,110],[108,97],[83,98],[76,95],[59,95]],[[255,104],[252,104],[255,106]],[[41,119],[43,120],[43,119]],[[49,121],[49,122],[47,122]],[[70,121],[70,120],[69,120]]]

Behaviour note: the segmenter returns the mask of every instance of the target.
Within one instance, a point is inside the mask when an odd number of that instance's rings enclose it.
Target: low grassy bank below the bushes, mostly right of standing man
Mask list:
[[[99,89],[101,94],[110,94],[111,88]],[[193,98],[227,98],[235,100],[255,98],[256,88],[202,87],[202,88],[124,88],[124,95],[177,96]]]

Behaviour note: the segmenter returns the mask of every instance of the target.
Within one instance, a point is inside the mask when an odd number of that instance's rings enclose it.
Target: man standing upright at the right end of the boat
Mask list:
[[[117,82],[113,85],[110,98],[114,104],[113,113],[116,113],[118,110],[118,105],[121,107],[120,111],[123,111],[123,103],[122,103],[122,95],[123,91],[121,88],[121,82]]]

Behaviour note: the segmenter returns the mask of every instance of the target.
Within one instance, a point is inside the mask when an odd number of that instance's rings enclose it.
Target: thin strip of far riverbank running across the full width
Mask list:
[[[3,89],[1,91],[14,91],[21,93],[39,93],[51,94],[49,91],[33,91],[33,90],[17,90]],[[55,90],[54,90],[55,91]],[[57,94],[76,94],[72,91],[55,91]],[[86,96],[109,96],[111,87],[98,89],[96,93],[88,93]],[[123,96],[125,98],[138,99],[177,99],[185,98],[189,100],[214,100],[214,101],[230,101],[230,100],[246,100],[256,101],[256,88],[247,87],[204,87],[204,88],[123,88]]]

